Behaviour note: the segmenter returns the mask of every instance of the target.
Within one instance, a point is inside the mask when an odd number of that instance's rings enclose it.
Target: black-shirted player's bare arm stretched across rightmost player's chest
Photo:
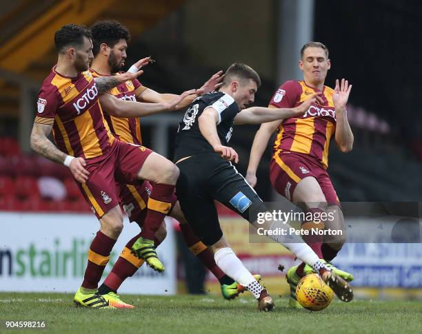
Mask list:
[[[284,118],[296,117],[303,115],[310,105],[317,101],[317,94],[312,94],[308,100],[294,108],[268,108],[268,107],[250,107],[243,109],[236,117],[234,124],[261,124],[283,120]]]

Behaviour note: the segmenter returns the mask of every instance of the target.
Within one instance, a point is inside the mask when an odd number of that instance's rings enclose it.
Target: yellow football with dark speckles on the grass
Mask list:
[[[316,275],[311,273],[301,278],[296,287],[296,298],[299,304],[310,311],[321,311],[325,309],[330,302],[334,292],[325,284],[325,282]]]

